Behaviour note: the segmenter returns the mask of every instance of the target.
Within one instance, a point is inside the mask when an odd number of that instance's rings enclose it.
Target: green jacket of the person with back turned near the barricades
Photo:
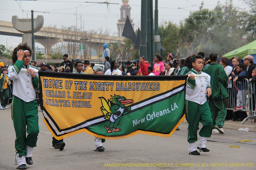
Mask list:
[[[228,97],[228,76],[219,63],[211,63],[204,69],[211,76],[212,95],[207,100],[220,100]]]

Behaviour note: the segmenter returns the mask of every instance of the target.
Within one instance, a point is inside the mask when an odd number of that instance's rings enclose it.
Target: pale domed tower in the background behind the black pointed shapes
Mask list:
[[[118,23],[116,23],[116,25],[117,25],[117,36],[118,37],[122,37],[124,24],[125,24],[127,16],[130,19],[130,22],[132,24],[132,28],[134,27],[134,23],[133,23],[133,20],[131,19],[131,13],[130,13],[131,7],[128,4],[129,0],[122,0],[122,2],[123,2],[123,4],[121,5],[121,8],[120,8],[121,18],[118,19]]]

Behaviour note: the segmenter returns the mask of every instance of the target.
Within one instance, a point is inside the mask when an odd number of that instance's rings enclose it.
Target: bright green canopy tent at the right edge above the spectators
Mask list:
[[[256,63],[256,41],[252,41],[243,47],[230,51],[222,57],[231,59],[232,57],[237,56],[238,58],[243,59],[246,55],[252,55],[254,58],[253,63]]]

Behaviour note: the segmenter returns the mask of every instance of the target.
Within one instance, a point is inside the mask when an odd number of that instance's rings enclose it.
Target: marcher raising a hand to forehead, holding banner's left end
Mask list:
[[[33,164],[32,150],[36,147],[38,106],[36,91],[39,92],[37,67],[29,65],[33,51],[27,43],[19,44],[12,52],[12,63],[8,67],[9,78],[13,80],[12,121],[16,133],[15,149],[19,169]],[[28,72],[20,72],[27,70]],[[27,129],[26,129],[27,126]],[[26,131],[28,136],[26,136]]]

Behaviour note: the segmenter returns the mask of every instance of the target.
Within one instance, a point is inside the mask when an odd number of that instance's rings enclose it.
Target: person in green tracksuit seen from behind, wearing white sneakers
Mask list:
[[[223,125],[227,113],[225,98],[228,97],[228,76],[223,67],[216,63],[218,55],[212,53],[209,56],[211,64],[204,69],[204,72],[211,76],[212,95],[207,97],[212,114],[212,133],[224,134]],[[218,119],[217,119],[218,117]]]

